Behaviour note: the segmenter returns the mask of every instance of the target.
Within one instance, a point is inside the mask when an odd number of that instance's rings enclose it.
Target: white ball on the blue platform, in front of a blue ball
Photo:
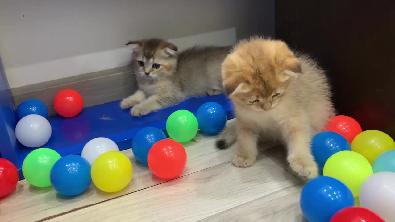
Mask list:
[[[18,121],[15,136],[25,147],[41,147],[51,138],[51,124],[44,117],[31,114]]]

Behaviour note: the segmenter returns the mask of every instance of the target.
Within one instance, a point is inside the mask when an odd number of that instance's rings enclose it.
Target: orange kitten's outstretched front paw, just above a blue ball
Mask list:
[[[297,175],[312,179],[318,177],[318,167],[314,160],[305,160],[303,158],[291,159],[290,166]]]

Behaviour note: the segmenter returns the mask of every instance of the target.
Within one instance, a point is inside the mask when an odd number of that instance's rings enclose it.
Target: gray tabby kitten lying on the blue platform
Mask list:
[[[130,41],[132,68],[138,90],[122,100],[122,109],[140,117],[190,97],[223,93],[221,63],[228,47],[193,47],[178,53],[177,46],[160,39]]]

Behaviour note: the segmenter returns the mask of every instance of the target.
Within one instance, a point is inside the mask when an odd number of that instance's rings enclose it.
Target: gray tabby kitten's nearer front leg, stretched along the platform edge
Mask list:
[[[154,111],[175,105],[181,100],[182,97],[175,94],[155,94],[135,105],[130,111],[130,114],[134,117],[145,116]]]

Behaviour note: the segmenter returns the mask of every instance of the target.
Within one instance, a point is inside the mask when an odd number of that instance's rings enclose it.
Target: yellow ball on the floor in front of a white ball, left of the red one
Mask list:
[[[90,169],[92,182],[104,192],[118,192],[128,186],[133,175],[129,158],[119,151],[100,155]]]

